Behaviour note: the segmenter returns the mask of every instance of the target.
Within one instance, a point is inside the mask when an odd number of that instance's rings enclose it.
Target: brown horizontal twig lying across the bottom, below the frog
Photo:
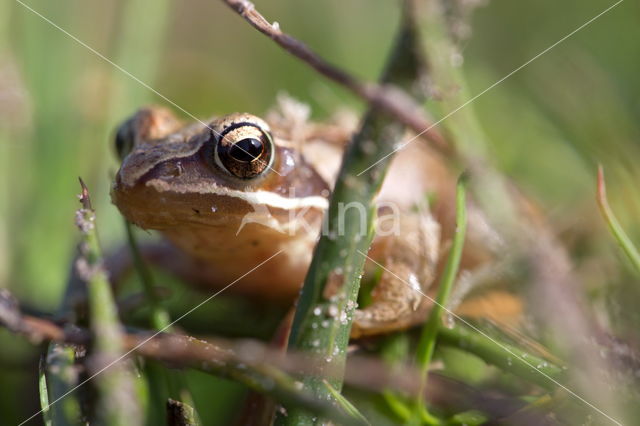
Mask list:
[[[22,314],[6,290],[0,291],[0,326],[37,343],[51,341],[83,346],[89,345],[92,340],[91,333],[85,328],[61,325],[49,319]],[[204,362],[222,368],[232,362],[244,364],[248,368],[255,365],[270,366],[291,374],[322,373],[329,377],[336,374],[323,358],[300,352],[283,354],[276,348],[253,340],[202,340],[181,334],[162,333],[140,345],[153,334],[155,333],[150,330],[124,333],[124,349],[136,348],[136,354],[166,362],[173,367],[200,368]],[[475,347],[469,344],[473,341],[470,340],[473,333],[451,331],[449,334],[449,344],[472,349]],[[377,358],[352,354],[345,381],[361,389],[396,389],[407,395],[415,395],[418,391],[418,382],[415,380],[418,370],[409,365],[400,367],[388,368],[387,364]]]

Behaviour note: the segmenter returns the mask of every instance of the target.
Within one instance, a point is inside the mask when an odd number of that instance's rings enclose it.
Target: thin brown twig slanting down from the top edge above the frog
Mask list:
[[[330,64],[311,50],[300,40],[284,33],[279,25],[271,24],[258,12],[248,0],[223,0],[231,9],[242,16],[252,27],[275,41],[280,47],[304,61],[314,70],[330,80],[344,86],[370,106],[379,108],[425,139],[431,141],[441,152],[450,152],[451,147],[433,123],[423,113],[421,105],[416,103],[404,91],[392,85],[378,85],[363,82],[347,72]],[[425,129],[428,129],[425,131]]]

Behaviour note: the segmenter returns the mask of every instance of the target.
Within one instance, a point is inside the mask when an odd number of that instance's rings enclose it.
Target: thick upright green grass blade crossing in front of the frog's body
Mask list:
[[[414,32],[408,14],[388,61],[382,80],[409,88],[417,79]],[[414,89],[416,85],[413,85]],[[362,127],[345,152],[330,205],[326,226],[316,246],[293,320],[289,348],[308,351],[344,370],[351,320],[355,309],[360,275],[373,239],[375,206],[373,198],[384,179],[394,144],[401,140],[404,126],[372,108]],[[373,149],[365,149],[369,145]],[[372,164],[374,165],[372,167]],[[360,208],[345,208],[345,206]],[[363,211],[364,210],[364,211]],[[364,214],[362,214],[364,213]],[[325,297],[326,288],[335,294]],[[338,312],[338,315],[332,315]],[[316,313],[320,313],[317,315]],[[302,379],[304,389],[320,399],[333,399],[323,377]],[[331,386],[342,389],[342,375],[330,379]],[[301,410],[279,415],[276,424],[309,424],[313,416]]]

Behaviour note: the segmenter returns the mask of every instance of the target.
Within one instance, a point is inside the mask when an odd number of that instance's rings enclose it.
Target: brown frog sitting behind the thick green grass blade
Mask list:
[[[232,114],[207,126],[183,125],[163,108],[140,110],[118,133],[124,158],[111,192],[114,204],[129,221],[160,231],[186,253],[190,275],[209,288],[237,280],[229,291],[292,300],[311,261],[352,128],[309,123],[291,109],[267,120]],[[234,143],[252,146],[247,138],[261,142],[253,144],[263,145],[262,154],[225,166],[221,158],[229,159]],[[216,149],[222,153],[217,157]],[[354,336],[406,328],[425,317],[430,302],[420,292],[428,291],[435,276],[439,223],[451,224],[416,206],[431,192],[445,200],[441,206],[451,199],[443,195],[442,178],[434,178],[442,175],[422,144],[396,154],[377,202],[398,207],[399,232],[376,237],[369,254],[391,272],[382,274],[372,304],[356,310]]]

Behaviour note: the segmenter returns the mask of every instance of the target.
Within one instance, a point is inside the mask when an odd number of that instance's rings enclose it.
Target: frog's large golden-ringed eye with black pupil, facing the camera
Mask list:
[[[216,162],[237,178],[254,178],[271,165],[273,140],[256,124],[235,123],[224,129],[217,140]]]

